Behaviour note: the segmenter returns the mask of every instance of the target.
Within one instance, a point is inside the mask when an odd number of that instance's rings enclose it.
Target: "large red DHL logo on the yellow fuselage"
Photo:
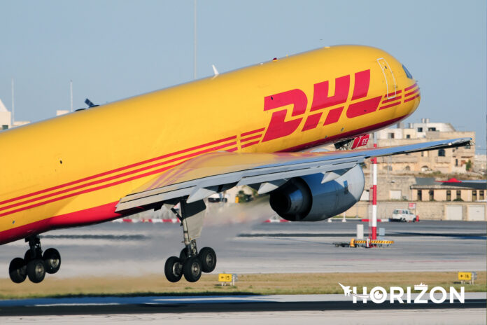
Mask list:
[[[327,113],[323,125],[337,123],[341,113],[344,111],[345,104],[350,93],[350,75],[335,78],[334,95],[328,95],[329,81],[315,83],[313,89],[313,102],[311,104],[310,115],[306,118],[302,127],[302,132],[313,130],[318,127],[323,114]],[[370,69],[355,73],[353,84],[353,95],[351,100],[367,97],[370,84]],[[381,103],[382,96],[363,99],[360,102],[349,104],[346,109],[348,118],[356,118],[377,110]],[[264,111],[279,109],[283,106],[292,105],[291,118],[286,120],[288,109],[274,111],[271,116],[267,132],[262,141],[269,141],[288,136],[295,132],[302,120],[305,118],[308,97],[300,89],[288,90],[278,94],[264,97]],[[338,107],[334,107],[338,106]],[[330,108],[328,111],[325,109]]]

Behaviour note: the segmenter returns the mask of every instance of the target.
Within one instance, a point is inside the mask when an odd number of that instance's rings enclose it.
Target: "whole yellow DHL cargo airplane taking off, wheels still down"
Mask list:
[[[43,251],[41,233],[164,206],[184,240],[164,274],[196,282],[217,261],[196,242],[210,195],[248,185],[269,193],[283,219],[322,221],[360,200],[364,160],[470,144],[346,150],[407,118],[420,99],[385,51],[331,46],[2,131],[0,244],[29,244],[10,279],[38,283],[59,270],[59,251]],[[339,150],[316,149],[325,144]]]

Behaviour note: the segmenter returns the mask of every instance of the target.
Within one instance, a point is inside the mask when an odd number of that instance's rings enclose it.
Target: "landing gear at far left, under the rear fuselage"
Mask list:
[[[26,277],[34,283],[41,282],[45,273],[54,274],[61,267],[61,256],[57,249],[49,248],[42,253],[41,239],[38,235],[25,239],[29,242],[29,249],[24,258],[16,257],[10,262],[8,275],[15,283],[24,282]]]

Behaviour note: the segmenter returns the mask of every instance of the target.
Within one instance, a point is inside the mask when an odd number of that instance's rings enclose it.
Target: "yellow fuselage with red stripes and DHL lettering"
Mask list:
[[[0,132],[0,244],[114,219],[120,198],[196,155],[301,151],[419,101],[388,53],[334,46]]]

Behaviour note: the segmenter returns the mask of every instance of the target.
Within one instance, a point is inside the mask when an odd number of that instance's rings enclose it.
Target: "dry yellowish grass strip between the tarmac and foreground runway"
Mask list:
[[[209,296],[209,295],[269,295],[269,294],[325,294],[343,293],[338,282],[346,286],[362,286],[370,290],[382,286],[414,286],[428,284],[442,286],[449,291],[460,286],[465,292],[486,292],[486,272],[477,272],[474,284],[460,284],[457,272],[367,272],[367,273],[275,273],[239,275],[235,286],[221,286],[218,275],[202,275],[199,282],[185,279],[171,283],[164,275],[140,277],[69,277],[48,276],[40,284],[27,279],[14,284],[10,279],[0,279],[0,299],[73,297],[73,296]]]

